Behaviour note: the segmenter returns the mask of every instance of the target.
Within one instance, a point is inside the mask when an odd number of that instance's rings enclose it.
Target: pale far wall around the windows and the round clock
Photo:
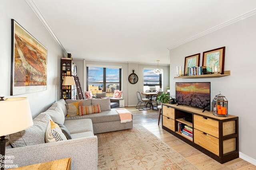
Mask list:
[[[74,59],[74,63],[77,65],[78,77],[80,79],[81,85],[86,79],[86,71],[83,70],[84,64],[81,59]],[[121,66],[122,67],[122,91],[125,106],[136,106],[138,99],[136,96],[136,92],[143,92],[143,70],[144,68],[157,68],[156,65],[145,65],[138,63],[113,63],[113,62],[102,62],[102,61],[85,61],[86,65],[98,65],[98,66]],[[166,91],[166,87],[169,87],[169,66],[159,66],[159,68],[163,68],[164,70],[164,86],[163,89]],[[128,76],[132,73],[132,69],[135,70],[135,73],[138,75],[138,83],[130,84],[128,82]],[[85,80],[86,82],[86,80]],[[83,91],[86,90],[86,83],[82,85]]]

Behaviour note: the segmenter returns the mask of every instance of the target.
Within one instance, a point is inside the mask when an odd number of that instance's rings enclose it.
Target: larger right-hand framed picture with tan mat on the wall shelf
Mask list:
[[[225,48],[204,51],[202,66],[206,66],[208,72],[212,72],[212,66],[220,66],[220,74],[224,74]]]

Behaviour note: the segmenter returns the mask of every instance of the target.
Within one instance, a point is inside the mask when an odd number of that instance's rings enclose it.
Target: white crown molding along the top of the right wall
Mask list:
[[[180,46],[180,45],[186,44],[186,43],[188,43],[188,42],[190,42],[190,41],[193,41],[193,40],[195,40],[195,39],[198,39],[198,38],[200,38],[200,37],[202,37],[202,36],[204,36],[204,35],[207,35],[207,34],[209,34],[209,33],[212,33],[212,32],[214,32],[214,31],[217,31],[218,29],[221,29],[221,28],[223,28],[223,27],[226,27],[226,26],[231,25],[231,24],[233,24],[233,23],[236,23],[236,22],[238,22],[238,21],[244,20],[244,19],[246,19],[246,18],[248,18],[248,17],[250,17],[250,16],[253,16],[253,15],[255,15],[255,14],[256,14],[256,9],[251,10],[251,11],[249,11],[249,12],[246,12],[245,14],[243,14],[243,15],[241,15],[241,16],[238,16],[238,17],[236,17],[236,18],[233,18],[233,19],[231,19],[231,20],[228,20],[228,21],[226,21],[226,22],[224,22],[224,23],[221,23],[220,25],[217,25],[217,26],[215,26],[215,27],[212,27],[212,28],[210,28],[210,29],[207,29],[206,31],[204,31],[204,32],[202,32],[202,33],[199,33],[199,34],[194,35],[193,37],[190,37],[190,38],[188,38],[188,39],[186,39],[186,40],[184,40],[184,41],[181,41],[181,42],[179,42],[179,43],[177,43],[177,44],[174,44],[174,45],[170,46],[168,49],[169,49],[169,50],[174,49],[174,48],[176,48],[176,47],[178,47],[178,46]]]

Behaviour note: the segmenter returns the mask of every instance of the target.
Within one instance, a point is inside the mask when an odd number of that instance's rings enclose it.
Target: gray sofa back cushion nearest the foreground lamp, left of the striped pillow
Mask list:
[[[51,117],[47,113],[40,113],[34,120],[34,125],[24,131],[9,135],[12,147],[24,147],[45,143],[45,132]]]

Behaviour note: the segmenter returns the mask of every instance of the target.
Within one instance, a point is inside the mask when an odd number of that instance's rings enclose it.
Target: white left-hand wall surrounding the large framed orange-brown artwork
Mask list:
[[[47,90],[10,96],[11,80],[11,19],[16,20],[48,49]],[[32,116],[36,117],[60,98],[60,59],[62,49],[24,0],[0,2],[0,96],[28,97]]]

